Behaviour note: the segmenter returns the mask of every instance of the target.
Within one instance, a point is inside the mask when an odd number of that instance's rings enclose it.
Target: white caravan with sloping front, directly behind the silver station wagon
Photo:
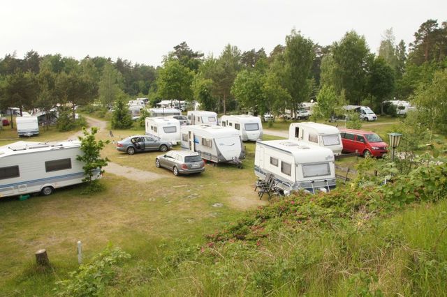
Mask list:
[[[220,125],[182,125],[182,148],[212,162],[240,165],[245,157],[239,131]]]

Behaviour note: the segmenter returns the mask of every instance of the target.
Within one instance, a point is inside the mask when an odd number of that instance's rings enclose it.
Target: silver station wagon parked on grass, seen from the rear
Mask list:
[[[156,157],[155,166],[170,169],[175,176],[205,171],[205,163],[200,155],[193,151],[168,151]]]

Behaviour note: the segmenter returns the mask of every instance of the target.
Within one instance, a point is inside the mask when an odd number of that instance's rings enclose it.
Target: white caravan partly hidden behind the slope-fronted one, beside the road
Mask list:
[[[261,124],[261,118],[258,116],[250,116],[248,114],[222,116],[221,125],[239,130],[243,142],[263,139],[263,125]]]

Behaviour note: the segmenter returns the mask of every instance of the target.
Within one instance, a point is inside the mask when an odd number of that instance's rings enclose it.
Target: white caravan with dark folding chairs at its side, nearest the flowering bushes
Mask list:
[[[273,174],[277,188],[327,192],[335,188],[334,155],[329,148],[309,146],[290,139],[256,142],[254,173]]]

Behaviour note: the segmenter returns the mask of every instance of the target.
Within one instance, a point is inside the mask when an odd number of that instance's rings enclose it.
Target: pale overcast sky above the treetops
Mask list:
[[[376,52],[386,29],[408,45],[428,19],[446,21],[447,1],[2,1],[0,57],[35,50],[159,66],[182,41],[205,55],[219,56],[228,43],[269,54],[293,28],[320,45],[355,30]]]

